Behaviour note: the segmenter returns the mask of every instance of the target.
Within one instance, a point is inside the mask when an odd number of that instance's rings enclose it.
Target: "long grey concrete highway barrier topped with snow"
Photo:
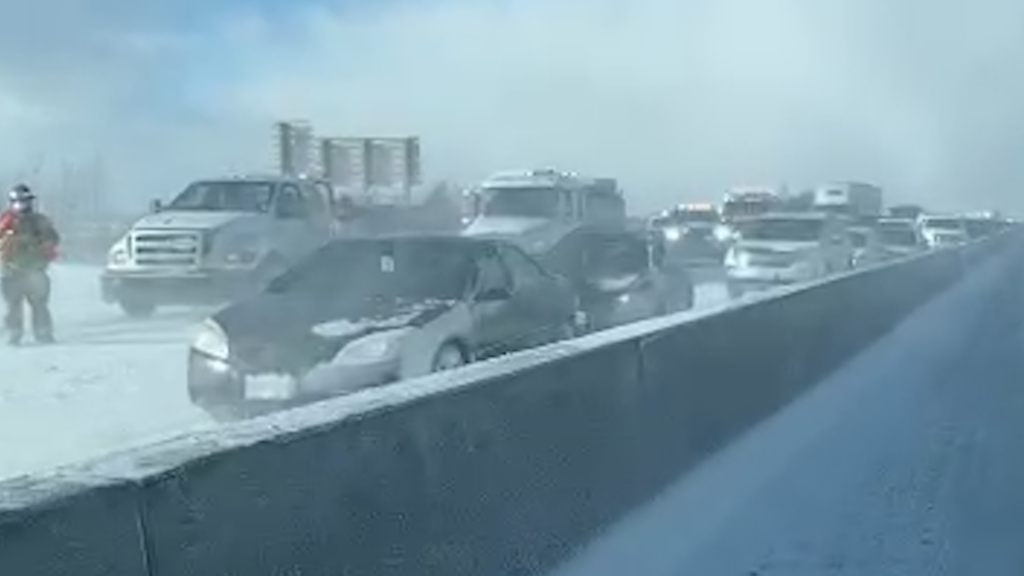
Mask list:
[[[0,484],[0,571],[543,573],[1013,238]]]

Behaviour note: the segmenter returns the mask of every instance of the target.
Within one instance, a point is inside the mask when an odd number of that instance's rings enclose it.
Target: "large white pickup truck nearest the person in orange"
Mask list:
[[[197,180],[155,201],[108,253],[103,300],[131,317],[251,292],[327,243],[331,189],[286,176]]]

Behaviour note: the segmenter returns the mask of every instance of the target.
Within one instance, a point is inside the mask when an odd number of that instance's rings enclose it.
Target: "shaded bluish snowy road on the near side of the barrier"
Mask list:
[[[986,290],[993,274],[930,303],[556,574],[1024,574],[1024,308]]]

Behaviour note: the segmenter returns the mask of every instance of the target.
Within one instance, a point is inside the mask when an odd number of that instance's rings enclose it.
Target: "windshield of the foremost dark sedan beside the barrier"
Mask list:
[[[352,305],[460,299],[472,278],[474,247],[444,239],[335,242],[278,278],[269,290]]]

